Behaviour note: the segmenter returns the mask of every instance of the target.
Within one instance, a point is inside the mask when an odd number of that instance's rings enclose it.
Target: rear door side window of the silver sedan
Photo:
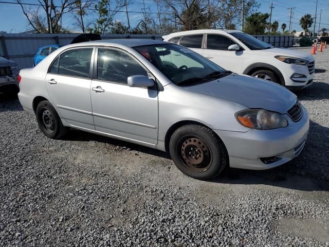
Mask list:
[[[92,54],[93,48],[72,49],[64,52],[60,56],[58,74],[89,78]],[[56,66],[56,61],[52,66]]]

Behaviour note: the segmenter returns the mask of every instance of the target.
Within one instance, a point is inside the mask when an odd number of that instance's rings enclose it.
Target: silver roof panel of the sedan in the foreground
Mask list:
[[[143,45],[156,45],[156,44],[165,44],[168,43],[166,41],[161,40],[151,40],[151,39],[108,39],[108,40],[95,40],[95,41],[88,41],[82,43],[76,43],[73,45],[81,46],[81,45],[98,45],[98,46],[143,46]]]

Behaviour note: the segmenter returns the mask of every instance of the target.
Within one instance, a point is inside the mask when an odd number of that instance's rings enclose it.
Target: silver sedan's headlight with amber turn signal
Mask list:
[[[287,119],[280,113],[263,109],[248,109],[235,113],[237,121],[243,126],[258,129],[271,130],[286,127]]]

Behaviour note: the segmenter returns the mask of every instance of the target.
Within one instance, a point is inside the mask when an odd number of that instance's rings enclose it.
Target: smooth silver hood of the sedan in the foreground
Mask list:
[[[185,88],[229,100],[247,108],[261,108],[282,114],[286,113],[297,99],[295,94],[279,84],[236,74]]]

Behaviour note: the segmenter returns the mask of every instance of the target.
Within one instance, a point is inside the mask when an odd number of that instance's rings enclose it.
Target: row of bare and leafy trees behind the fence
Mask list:
[[[278,21],[269,25],[269,14],[257,12],[260,7],[257,0],[153,0],[153,3],[145,0],[38,0],[38,7],[27,7],[22,0],[15,1],[20,4],[29,26],[40,33],[65,33],[76,29],[83,33],[165,34],[195,29],[240,29],[241,25],[244,32],[253,35],[296,33],[296,30],[289,33],[285,23],[281,27]],[[136,10],[136,6],[140,11],[130,10]],[[154,7],[156,10],[152,10]],[[130,20],[132,14],[134,19],[138,15],[134,24]],[[73,21],[68,25],[63,22],[63,16]],[[310,14],[300,19],[304,34],[312,24]]]

